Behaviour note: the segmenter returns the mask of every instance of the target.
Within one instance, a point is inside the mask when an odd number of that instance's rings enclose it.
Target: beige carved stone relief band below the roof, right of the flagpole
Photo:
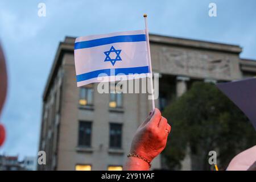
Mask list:
[[[151,55],[152,68],[160,73],[215,80],[242,77],[240,58],[234,53],[151,44]]]

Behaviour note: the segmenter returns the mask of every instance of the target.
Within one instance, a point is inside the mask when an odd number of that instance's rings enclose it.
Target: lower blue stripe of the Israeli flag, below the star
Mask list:
[[[77,75],[76,76],[76,81],[79,82],[79,81],[89,80],[91,78],[97,78],[98,75],[100,75],[101,73],[106,74],[106,75],[102,75],[102,76],[114,76],[114,75],[110,75],[110,70],[111,69],[100,69],[100,70],[97,70],[97,71]],[[149,73],[149,72],[150,71],[148,69],[148,66],[146,66],[146,67],[134,67],[134,68],[115,68],[114,69],[115,76],[118,75],[118,74],[121,75],[121,73],[123,75],[129,75],[129,74],[141,74],[141,73]]]

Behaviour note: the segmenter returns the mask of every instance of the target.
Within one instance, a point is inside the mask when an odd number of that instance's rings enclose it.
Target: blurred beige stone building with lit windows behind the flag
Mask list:
[[[137,127],[151,110],[147,94],[100,94],[97,84],[76,86],[75,38],[59,44],[43,94],[39,151],[46,165],[39,170],[119,170]],[[256,61],[240,58],[230,44],[150,35],[153,72],[160,73],[163,110],[194,81],[231,81],[256,74]],[[191,169],[189,151],[184,170]],[[152,169],[165,168],[159,156]]]

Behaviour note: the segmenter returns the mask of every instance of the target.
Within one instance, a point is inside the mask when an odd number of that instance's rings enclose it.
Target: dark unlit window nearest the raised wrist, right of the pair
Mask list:
[[[110,123],[110,148],[121,148],[122,147],[122,124]]]

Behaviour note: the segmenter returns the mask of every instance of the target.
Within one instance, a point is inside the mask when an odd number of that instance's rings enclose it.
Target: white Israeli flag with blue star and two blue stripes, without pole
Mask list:
[[[77,86],[149,76],[146,39],[145,30],[77,38],[74,47]]]

